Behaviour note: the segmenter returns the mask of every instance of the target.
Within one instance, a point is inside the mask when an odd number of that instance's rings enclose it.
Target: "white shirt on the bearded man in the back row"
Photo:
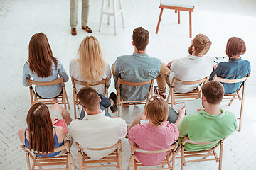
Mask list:
[[[170,84],[173,77],[182,81],[196,81],[210,76],[213,72],[214,62],[211,57],[197,57],[188,55],[185,58],[178,59],[171,64]],[[186,93],[196,89],[196,85],[174,84],[174,90],[180,93]]]

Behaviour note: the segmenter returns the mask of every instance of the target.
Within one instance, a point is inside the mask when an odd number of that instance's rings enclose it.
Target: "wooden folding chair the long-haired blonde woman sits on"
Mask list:
[[[80,86],[96,86],[96,85],[100,85],[100,84],[105,84],[105,96],[107,98],[107,88],[108,88],[108,84],[107,84],[107,77],[106,79],[102,79],[101,81],[97,82],[97,84],[89,84],[85,81],[79,81],[77,79],[74,79],[73,77],[71,77],[71,81],[72,81],[72,85],[73,85],[73,103],[74,103],[74,115],[75,115],[75,119],[76,117],[76,106],[79,109],[79,105],[80,105],[80,101],[78,98],[78,92],[77,89],[75,88],[75,85],[80,85]]]

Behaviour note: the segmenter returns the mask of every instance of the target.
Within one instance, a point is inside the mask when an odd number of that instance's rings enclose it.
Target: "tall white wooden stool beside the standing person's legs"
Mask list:
[[[108,1],[108,5],[105,7],[105,1]],[[102,29],[102,16],[107,15],[107,24],[110,24],[110,16],[114,16],[114,35],[117,35],[117,16],[121,13],[122,23],[124,27],[124,11],[122,8],[122,0],[119,1],[119,8],[117,8],[117,0],[112,0],[112,7],[110,6],[110,0],[102,0],[102,11],[100,14],[100,30]]]

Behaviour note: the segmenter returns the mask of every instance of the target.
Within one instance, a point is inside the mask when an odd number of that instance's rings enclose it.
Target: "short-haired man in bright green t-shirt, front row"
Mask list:
[[[203,110],[184,117],[181,113],[185,113],[186,107],[179,109],[178,120],[182,120],[178,125],[180,136],[187,135],[195,142],[214,142],[231,135],[237,128],[237,122],[234,113],[219,108],[224,96],[223,85],[218,81],[210,81],[203,85],[202,93]],[[182,140],[182,138],[178,139],[178,143],[181,144]],[[188,151],[198,151],[217,144],[218,142],[209,145],[186,143],[184,148]]]

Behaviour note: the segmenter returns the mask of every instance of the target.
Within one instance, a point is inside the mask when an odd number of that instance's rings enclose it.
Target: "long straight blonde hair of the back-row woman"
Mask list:
[[[85,37],[79,47],[79,66],[82,79],[90,84],[100,81],[105,72],[105,60],[102,56],[100,43],[93,36]]]

